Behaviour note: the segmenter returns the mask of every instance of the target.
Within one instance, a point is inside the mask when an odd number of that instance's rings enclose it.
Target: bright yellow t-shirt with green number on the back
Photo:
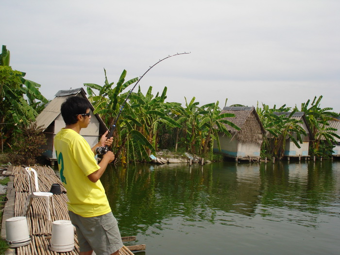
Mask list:
[[[72,129],[62,129],[54,138],[60,179],[67,190],[68,210],[82,217],[96,217],[111,212],[100,180],[91,182],[87,175],[100,167],[89,144]]]

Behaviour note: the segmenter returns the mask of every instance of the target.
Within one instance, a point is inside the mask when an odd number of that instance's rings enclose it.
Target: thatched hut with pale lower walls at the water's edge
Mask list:
[[[216,140],[214,140],[213,151],[222,153],[226,157],[235,158],[236,161],[259,160],[265,130],[255,107],[224,107],[221,111],[221,114],[223,113],[234,114],[235,117],[225,119],[237,125],[240,130],[225,124],[232,136],[228,137],[225,134],[219,134],[221,151]]]

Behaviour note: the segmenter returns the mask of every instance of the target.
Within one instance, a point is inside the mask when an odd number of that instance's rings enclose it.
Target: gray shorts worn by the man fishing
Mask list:
[[[112,212],[90,218],[71,211],[68,214],[76,227],[81,252],[93,250],[97,255],[110,255],[123,247],[118,222]]]

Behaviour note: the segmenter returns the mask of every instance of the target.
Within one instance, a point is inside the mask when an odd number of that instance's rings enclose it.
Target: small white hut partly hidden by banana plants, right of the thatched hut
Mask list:
[[[285,114],[286,116],[289,116],[291,112],[274,112],[276,115],[282,115]],[[298,148],[293,141],[288,137],[286,139],[285,144],[285,152],[284,156],[287,157],[289,160],[289,157],[308,157],[308,149],[309,149],[309,141],[314,140],[313,133],[309,128],[309,125],[306,120],[306,115],[304,112],[295,112],[292,117],[293,119],[297,119],[301,121],[300,126],[304,128],[306,131],[307,136],[302,136],[302,144],[300,145],[301,148]]]

